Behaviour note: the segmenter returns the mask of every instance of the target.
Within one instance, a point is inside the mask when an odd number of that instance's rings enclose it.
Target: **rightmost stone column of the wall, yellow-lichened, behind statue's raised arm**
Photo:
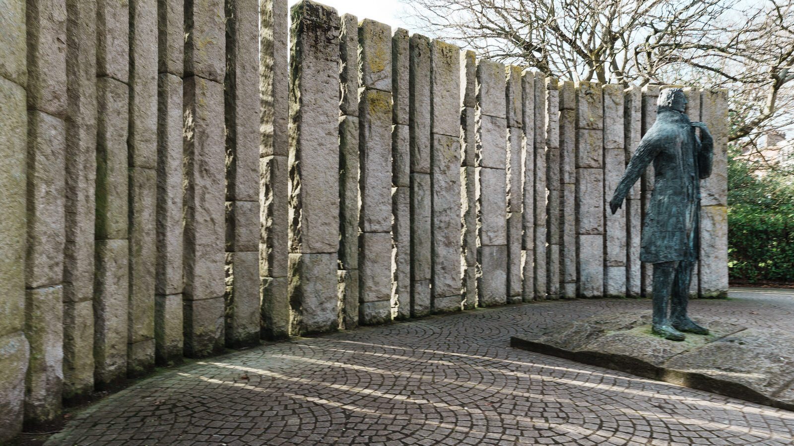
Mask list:
[[[724,298],[728,290],[727,90],[705,90],[700,121],[714,137],[711,176],[700,182],[700,296]]]

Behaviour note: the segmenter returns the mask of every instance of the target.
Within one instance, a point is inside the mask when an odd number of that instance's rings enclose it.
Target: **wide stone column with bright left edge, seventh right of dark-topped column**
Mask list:
[[[507,95],[502,63],[476,70],[476,203],[480,306],[507,303]],[[512,98],[511,98],[512,99]]]

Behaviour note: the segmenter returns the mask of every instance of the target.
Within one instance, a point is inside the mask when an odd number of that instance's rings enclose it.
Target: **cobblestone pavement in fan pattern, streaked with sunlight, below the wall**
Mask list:
[[[794,329],[794,290],[698,315]],[[794,412],[508,347],[527,325],[638,300],[544,302],[268,344],[106,398],[48,444],[794,444]]]

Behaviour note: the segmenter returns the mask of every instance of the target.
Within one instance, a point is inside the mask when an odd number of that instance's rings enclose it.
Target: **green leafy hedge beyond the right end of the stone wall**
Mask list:
[[[728,267],[740,282],[794,282],[794,214],[730,206]]]

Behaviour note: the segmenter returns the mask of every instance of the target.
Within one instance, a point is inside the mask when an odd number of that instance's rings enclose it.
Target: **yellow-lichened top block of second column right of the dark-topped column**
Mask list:
[[[359,87],[391,92],[391,26],[365,18],[358,24]]]

